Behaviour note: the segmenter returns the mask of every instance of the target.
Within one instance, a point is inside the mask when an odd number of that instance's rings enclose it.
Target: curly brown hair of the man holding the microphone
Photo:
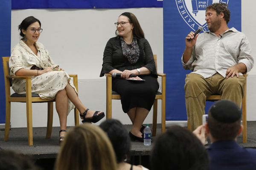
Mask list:
[[[207,11],[208,9],[216,11],[216,14],[219,15],[221,12],[224,14],[224,20],[227,22],[230,21],[230,10],[227,8],[227,3],[213,3],[205,8]]]

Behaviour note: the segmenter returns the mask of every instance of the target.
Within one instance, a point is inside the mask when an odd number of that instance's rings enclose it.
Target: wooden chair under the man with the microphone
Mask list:
[[[242,99],[242,124],[244,126],[243,129],[243,143],[247,142],[247,117],[246,117],[246,77],[248,76],[248,74],[243,74],[243,76],[245,77],[245,87],[244,87],[244,98]],[[210,102],[215,102],[221,100],[221,95],[219,94],[212,94],[211,96],[209,96],[206,101],[210,101]],[[188,121],[188,129],[191,129],[189,121]]]

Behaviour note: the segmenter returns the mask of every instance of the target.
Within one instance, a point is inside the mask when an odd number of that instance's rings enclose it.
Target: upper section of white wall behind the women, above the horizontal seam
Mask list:
[[[17,26],[32,15],[43,28],[38,42],[44,44],[55,63],[70,74],[78,74],[79,79],[99,79],[105,45],[115,37],[114,23],[125,11],[139,20],[162,71],[163,8],[12,10],[11,45],[19,42]]]

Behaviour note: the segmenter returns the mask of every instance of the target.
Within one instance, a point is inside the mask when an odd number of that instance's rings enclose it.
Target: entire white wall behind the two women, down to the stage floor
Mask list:
[[[131,9],[27,9],[12,10],[12,47],[19,42],[17,26],[34,16],[44,29],[38,42],[44,44],[56,64],[69,74],[78,74],[79,99],[92,110],[106,111],[105,77],[99,77],[106,43],[115,36],[114,25],[125,11],[135,14],[145,33],[145,38],[157,54],[158,72],[163,72],[163,8]],[[161,83],[161,79],[159,79]],[[159,101],[158,110],[161,111]],[[123,113],[119,100],[113,100],[113,118],[131,124]],[[33,104],[33,127],[47,125],[47,104]],[[12,103],[12,127],[26,127],[26,104]],[[81,121],[80,121],[81,122]],[[145,123],[152,122],[152,111]],[[160,115],[158,117],[160,122]],[[68,116],[68,126],[74,125],[73,111]],[[59,126],[54,110],[53,126]]]

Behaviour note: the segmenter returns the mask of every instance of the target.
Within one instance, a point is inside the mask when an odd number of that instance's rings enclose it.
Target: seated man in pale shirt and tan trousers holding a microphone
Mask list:
[[[185,100],[191,129],[202,125],[206,99],[220,94],[241,108],[245,77],[254,65],[250,42],[235,28],[227,26],[230,10],[226,3],[213,3],[206,8],[209,31],[200,35],[190,32],[181,58],[183,68],[193,72],[185,79]],[[190,40],[190,41],[188,41]]]

